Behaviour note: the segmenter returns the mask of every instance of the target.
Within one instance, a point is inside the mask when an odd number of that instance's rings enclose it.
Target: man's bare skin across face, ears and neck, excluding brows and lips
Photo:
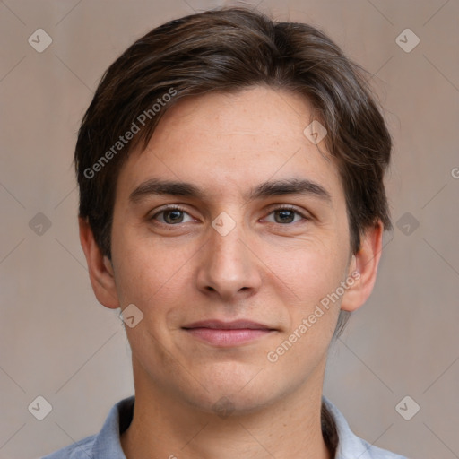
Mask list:
[[[303,134],[312,119],[307,100],[265,87],[182,100],[120,172],[111,262],[80,219],[100,303],[143,312],[138,325],[126,327],[136,396],[134,420],[121,437],[128,459],[331,457],[320,428],[327,350],[340,308],[356,310],[373,289],[382,226],[368,229],[351,254],[336,164],[323,143],[319,152]],[[188,182],[204,196],[130,202],[149,178]],[[330,202],[298,194],[247,199],[267,180],[290,178],[323,186]],[[166,204],[185,213],[159,213]],[[274,212],[285,205],[299,212],[287,212],[288,222]],[[212,227],[221,212],[235,223],[226,236]],[[171,224],[171,216],[183,221]],[[356,270],[359,280],[270,362],[267,353]],[[239,318],[274,331],[221,348],[182,328]],[[216,408],[223,402],[228,415]]]

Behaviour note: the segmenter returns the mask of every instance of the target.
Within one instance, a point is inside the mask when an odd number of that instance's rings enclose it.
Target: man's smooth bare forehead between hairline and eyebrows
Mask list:
[[[268,179],[307,178],[340,195],[325,143],[305,135],[314,120],[306,98],[267,87],[181,100],[161,118],[147,148],[132,152],[117,194],[129,195],[148,178],[196,184],[220,196],[247,195]]]

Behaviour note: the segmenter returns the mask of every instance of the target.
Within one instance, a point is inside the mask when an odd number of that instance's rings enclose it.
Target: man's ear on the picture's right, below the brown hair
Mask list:
[[[359,252],[351,257],[348,279],[353,279],[342,297],[343,311],[355,311],[362,306],[373,290],[377,279],[377,265],[381,257],[383,244],[383,224],[377,221],[360,237]]]

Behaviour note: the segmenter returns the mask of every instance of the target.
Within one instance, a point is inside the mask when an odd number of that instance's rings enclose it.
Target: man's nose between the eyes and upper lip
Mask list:
[[[210,228],[200,257],[199,290],[225,302],[254,295],[262,281],[259,260],[241,226],[237,224],[226,235]]]

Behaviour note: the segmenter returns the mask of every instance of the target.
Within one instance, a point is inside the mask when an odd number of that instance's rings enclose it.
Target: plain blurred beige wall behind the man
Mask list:
[[[102,72],[134,39],[219,4],[0,2],[2,458],[96,433],[133,393],[122,323],[94,298],[78,240],[75,134]],[[259,9],[321,27],[375,74],[394,134],[394,231],[372,298],[331,351],[325,394],[377,446],[457,458],[459,3],[264,0]],[[39,28],[53,39],[42,53],[28,43]],[[406,28],[420,38],[410,53],[395,42]],[[51,223],[41,235],[43,217],[30,223],[38,212]],[[405,212],[419,221],[411,234]],[[38,395],[53,407],[41,421],[28,411]],[[395,411],[405,395],[420,405],[411,420]]]

